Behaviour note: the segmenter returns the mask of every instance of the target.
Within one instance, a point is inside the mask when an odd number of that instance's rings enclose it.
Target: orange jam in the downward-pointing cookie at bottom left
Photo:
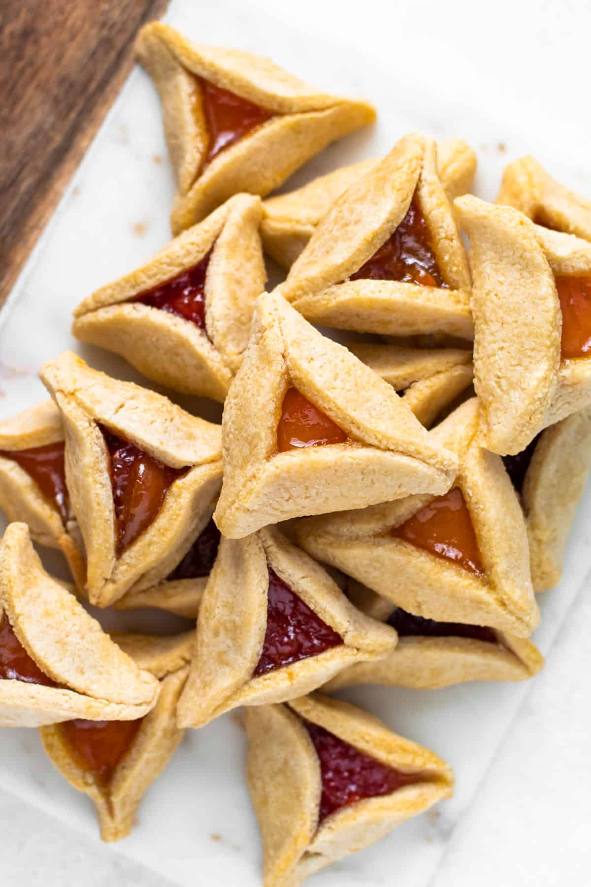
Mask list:
[[[99,782],[108,782],[136,738],[143,718],[134,721],[65,721],[60,729],[82,767]]]

